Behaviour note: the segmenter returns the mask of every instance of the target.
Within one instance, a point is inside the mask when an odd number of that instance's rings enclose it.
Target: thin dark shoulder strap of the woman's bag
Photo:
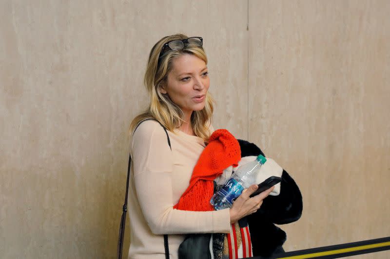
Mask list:
[[[156,121],[155,119],[146,119],[143,121],[149,121],[153,120]],[[136,129],[134,132],[137,130],[139,124],[141,124],[143,121],[139,122]],[[172,150],[171,147],[171,140],[169,139],[168,136],[168,131],[167,129],[159,122],[157,121],[161,127],[164,129],[165,134],[167,134],[167,139],[168,139],[168,145],[169,148]],[[127,195],[129,194],[129,179],[130,179],[130,165],[131,165],[131,154],[129,155],[129,166],[127,168],[127,180],[126,180],[126,195],[125,195],[125,202],[122,207],[122,217],[120,219],[120,226],[119,226],[119,238],[118,238],[118,247],[117,247],[117,259],[122,259],[122,248],[123,248],[123,237],[125,234],[125,225],[126,225],[126,213],[127,213]],[[164,235],[164,248],[165,248],[165,259],[169,259],[169,246],[168,246],[168,235]]]

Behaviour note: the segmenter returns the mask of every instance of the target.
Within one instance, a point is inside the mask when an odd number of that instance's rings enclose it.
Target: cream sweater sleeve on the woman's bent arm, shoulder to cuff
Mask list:
[[[141,211],[154,234],[228,233],[229,209],[174,209],[172,151],[156,121],[142,122],[132,138],[134,183]]]

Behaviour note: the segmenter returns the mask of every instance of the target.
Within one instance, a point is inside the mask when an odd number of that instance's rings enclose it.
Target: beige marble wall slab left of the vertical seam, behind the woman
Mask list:
[[[165,35],[204,37],[215,125],[247,136],[246,2],[1,1],[0,16],[0,258],[116,255],[128,125]]]

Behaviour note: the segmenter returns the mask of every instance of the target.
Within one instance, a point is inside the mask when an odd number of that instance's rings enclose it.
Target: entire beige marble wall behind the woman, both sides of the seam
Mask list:
[[[389,236],[389,11],[385,0],[1,1],[0,258],[115,257],[128,124],[146,106],[148,52],[176,32],[205,39],[215,127],[299,184],[286,250]]]

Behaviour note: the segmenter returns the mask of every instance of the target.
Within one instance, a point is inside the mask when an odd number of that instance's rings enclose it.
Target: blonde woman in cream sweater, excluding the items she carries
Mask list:
[[[131,123],[129,258],[165,258],[163,235],[168,234],[170,258],[175,259],[185,234],[228,233],[231,223],[254,213],[272,190],[249,198],[257,189],[253,185],[233,207],[218,211],[173,208],[214,130],[202,45],[200,37],[177,34],[162,38],[150,52],[144,78],[149,108]],[[167,129],[172,149],[157,121]]]

